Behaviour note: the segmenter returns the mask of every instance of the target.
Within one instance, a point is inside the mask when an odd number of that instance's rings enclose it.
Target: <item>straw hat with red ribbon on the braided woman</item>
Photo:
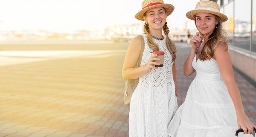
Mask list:
[[[141,7],[142,7],[141,11],[139,11],[135,15],[135,18],[142,21],[144,21],[143,19],[144,13],[149,9],[153,9],[156,7],[163,7],[164,9],[166,9],[167,16],[171,15],[171,13],[174,10],[174,7],[172,4],[164,4],[163,0],[144,0],[141,4]]]

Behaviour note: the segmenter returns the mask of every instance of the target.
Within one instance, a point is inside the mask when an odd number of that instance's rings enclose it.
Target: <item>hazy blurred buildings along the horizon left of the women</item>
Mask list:
[[[143,32],[143,22],[137,24],[115,24],[103,31],[76,30],[71,33],[51,31],[0,31],[0,41],[15,40],[114,40],[129,41]]]

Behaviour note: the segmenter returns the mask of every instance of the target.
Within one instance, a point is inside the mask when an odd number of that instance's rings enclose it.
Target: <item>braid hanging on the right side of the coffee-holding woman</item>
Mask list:
[[[168,51],[171,53],[171,55],[173,56],[173,62],[176,59],[176,51],[174,51],[174,45],[171,42],[170,38],[168,37],[169,34],[169,28],[167,27],[167,22],[165,22],[164,27],[163,27],[163,31],[164,31],[164,35],[166,35],[166,47],[168,49]]]

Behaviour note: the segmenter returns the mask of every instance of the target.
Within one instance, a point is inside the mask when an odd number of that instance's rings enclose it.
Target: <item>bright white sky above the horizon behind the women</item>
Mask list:
[[[143,0],[0,0],[0,31],[46,30],[72,32],[102,30],[115,24],[141,22],[134,18]],[[200,0],[164,0],[175,10],[169,28],[195,28],[186,12]]]

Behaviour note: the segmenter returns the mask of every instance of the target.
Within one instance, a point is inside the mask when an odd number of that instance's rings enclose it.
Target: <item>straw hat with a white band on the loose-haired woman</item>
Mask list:
[[[220,13],[220,6],[213,1],[200,1],[196,4],[195,10],[186,13],[186,17],[195,20],[198,13],[211,13],[220,17],[221,22],[227,21],[227,16]]]

